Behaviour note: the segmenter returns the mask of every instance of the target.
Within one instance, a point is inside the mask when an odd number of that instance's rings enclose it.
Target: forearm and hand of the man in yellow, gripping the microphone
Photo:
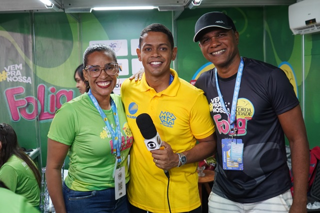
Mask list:
[[[199,143],[193,148],[182,152],[186,156],[186,163],[198,162],[215,153],[215,133],[203,139],[198,139],[198,141]],[[176,167],[179,163],[179,156],[172,151],[171,146],[168,143],[163,141],[162,146],[164,146],[164,149],[150,151],[152,153],[153,162],[156,161],[156,166],[165,170]]]

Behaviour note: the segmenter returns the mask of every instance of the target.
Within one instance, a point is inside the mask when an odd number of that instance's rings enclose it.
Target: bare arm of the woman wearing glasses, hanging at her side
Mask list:
[[[48,138],[45,178],[55,212],[64,213],[61,168],[69,146]]]

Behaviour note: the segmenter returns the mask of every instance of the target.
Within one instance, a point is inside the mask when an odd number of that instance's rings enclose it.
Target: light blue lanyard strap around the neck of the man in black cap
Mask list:
[[[229,122],[230,122],[230,131],[229,134],[233,136],[233,134],[236,134],[236,128],[234,127],[234,123],[236,121],[236,117],[235,117],[235,110],[236,110],[236,103],[238,100],[238,95],[239,95],[239,90],[240,90],[240,82],[241,82],[241,76],[242,76],[242,71],[243,71],[243,59],[241,57],[240,60],[240,64],[238,67],[238,72],[236,74],[236,80],[235,80],[235,85],[234,85],[234,91],[233,91],[233,98],[232,98],[232,106],[231,106],[231,112],[229,113],[228,110],[225,107],[223,98],[222,98],[222,94],[219,88],[219,83],[218,83],[218,77],[217,77],[217,70],[215,69],[215,85],[216,85],[216,89],[219,95],[219,101],[220,104],[223,108],[223,110],[225,111],[225,113],[227,114],[228,118],[229,118]]]

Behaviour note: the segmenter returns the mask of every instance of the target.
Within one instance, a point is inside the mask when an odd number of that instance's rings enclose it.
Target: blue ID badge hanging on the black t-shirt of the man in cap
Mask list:
[[[225,139],[222,139],[221,142],[222,142],[222,168],[224,170],[243,170],[242,139],[225,138]],[[232,145],[232,143],[236,143],[235,146],[234,144]],[[231,147],[233,152],[231,152]]]

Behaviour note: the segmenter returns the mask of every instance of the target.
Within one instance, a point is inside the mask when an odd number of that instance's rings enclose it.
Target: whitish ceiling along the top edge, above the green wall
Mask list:
[[[46,9],[40,0],[0,0],[0,12],[47,10],[64,12],[88,12],[98,6],[158,6],[159,10],[188,9],[191,0],[52,0],[56,7]],[[296,0],[202,0],[198,8],[222,6],[290,5]]]

